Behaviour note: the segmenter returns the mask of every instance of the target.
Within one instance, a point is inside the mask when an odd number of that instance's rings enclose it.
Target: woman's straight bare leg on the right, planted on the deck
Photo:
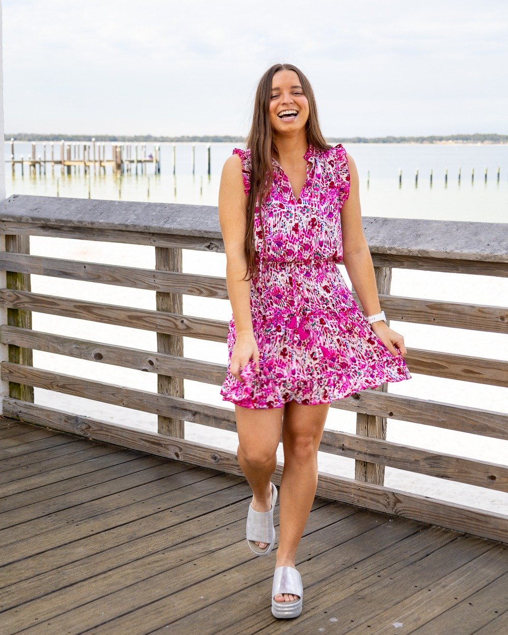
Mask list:
[[[283,422],[284,469],[279,487],[279,545],[277,566],[295,566],[298,544],[318,487],[318,447],[330,404],[304,406],[290,401]],[[277,594],[276,601],[293,600]]]

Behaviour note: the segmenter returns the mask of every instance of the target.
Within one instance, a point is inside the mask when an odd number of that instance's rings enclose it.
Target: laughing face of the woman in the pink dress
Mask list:
[[[296,114],[280,115],[286,110],[295,110]],[[304,95],[300,79],[294,70],[278,70],[272,79],[270,93],[270,123],[274,135],[290,133],[294,135],[305,130],[309,119],[309,101]]]

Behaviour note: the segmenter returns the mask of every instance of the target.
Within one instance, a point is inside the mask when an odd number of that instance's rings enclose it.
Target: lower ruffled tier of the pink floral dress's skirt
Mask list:
[[[388,382],[410,379],[402,356],[393,356],[375,335],[358,305],[340,312],[307,316],[253,318],[260,370],[251,359],[240,375],[230,372],[236,340],[229,324],[227,376],[220,389],[224,401],[246,408],[277,408],[295,400],[330,403]]]

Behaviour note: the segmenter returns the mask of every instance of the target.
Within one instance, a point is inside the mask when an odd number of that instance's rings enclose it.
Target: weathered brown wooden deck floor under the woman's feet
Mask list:
[[[243,478],[6,418],[0,457],[3,635],[508,633],[508,545],[316,498],[277,620]]]

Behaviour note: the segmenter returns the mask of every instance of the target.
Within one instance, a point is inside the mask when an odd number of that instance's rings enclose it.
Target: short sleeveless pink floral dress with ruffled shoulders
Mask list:
[[[250,149],[235,148],[244,190],[250,189]],[[330,403],[411,375],[375,335],[352,297],[337,263],[342,261],[340,210],[349,196],[349,165],[342,144],[320,150],[308,144],[307,180],[298,199],[272,158],[271,192],[254,217],[255,260],[250,306],[260,370],[250,359],[231,373],[236,342],[229,321],[223,401],[244,408],[279,408],[288,401]],[[263,215],[263,240],[259,215]]]

